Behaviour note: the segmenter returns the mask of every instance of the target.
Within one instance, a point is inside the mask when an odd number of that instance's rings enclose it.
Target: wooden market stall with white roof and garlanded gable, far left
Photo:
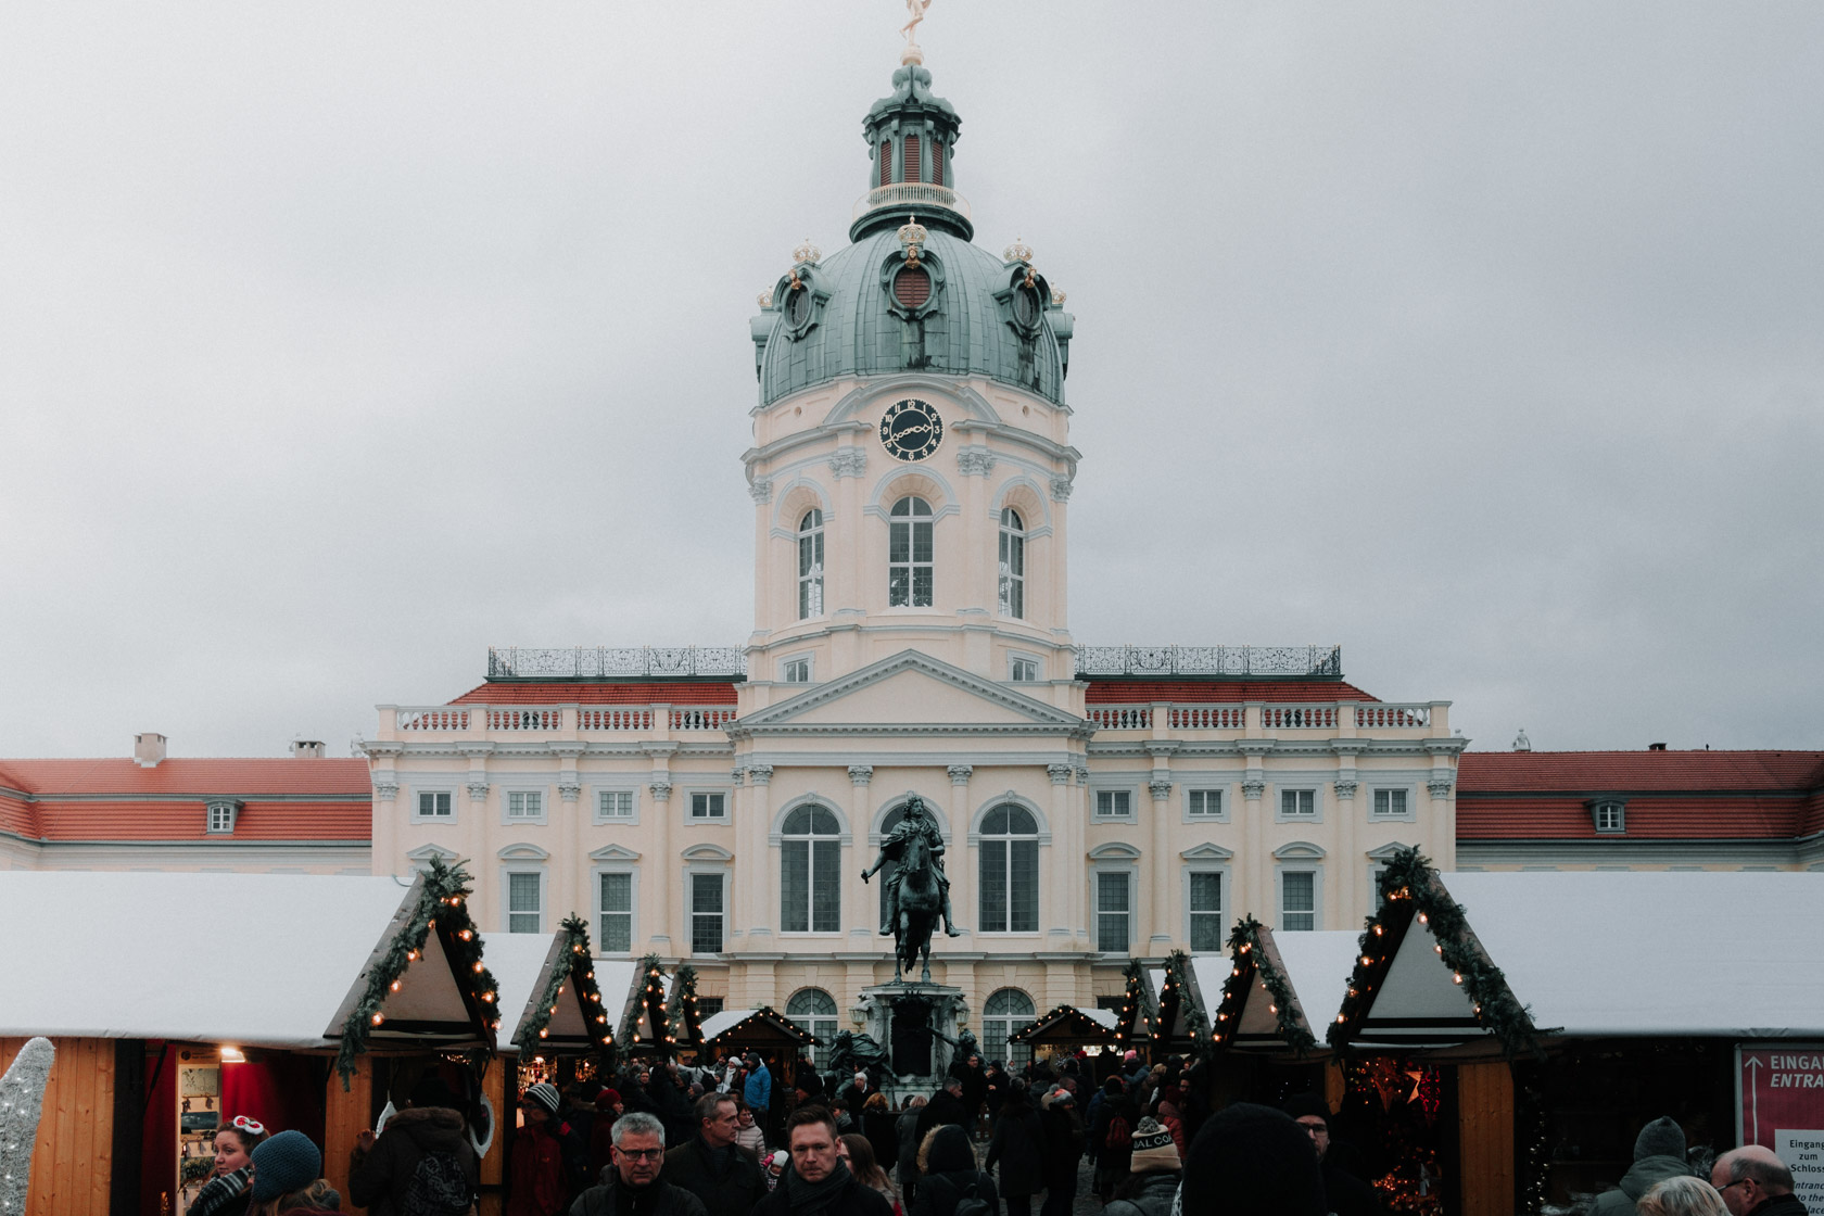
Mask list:
[[[325,1145],[345,1189],[376,1056],[492,1048],[463,879],[0,873],[0,924],[46,926],[0,937],[0,1068],[57,1046],[27,1216],[181,1214],[235,1114]]]

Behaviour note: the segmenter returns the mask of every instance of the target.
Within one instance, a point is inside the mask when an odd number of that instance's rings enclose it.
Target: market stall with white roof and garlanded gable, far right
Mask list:
[[[1437,873],[1403,853],[1330,1041],[1441,1070],[1441,1190],[1472,1216],[1614,1185],[1658,1116],[1698,1149],[1778,1150],[1740,1127],[1736,1061],[1824,1043],[1824,873]]]

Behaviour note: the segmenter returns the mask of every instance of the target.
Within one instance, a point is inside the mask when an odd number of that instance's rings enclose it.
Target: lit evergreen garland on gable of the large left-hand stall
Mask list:
[[[418,881],[421,884],[418,904],[405,926],[385,944],[385,955],[368,964],[367,990],[343,1023],[336,1072],[341,1074],[345,1092],[348,1077],[354,1076],[356,1057],[367,1052],[368,1036],[387,1021],[381,1010],[387,995],[399,990],[405,968],[423,957],[430,933],[438,935],[451,974],[463,986],[463,1003],[474,1012],[476,1021],[489,1037],[500,1028],[500,984],[482,963],[482,933],[469,919],[469,873],[461,864],[451,868],[441,857],[432,857],[429,870]]]

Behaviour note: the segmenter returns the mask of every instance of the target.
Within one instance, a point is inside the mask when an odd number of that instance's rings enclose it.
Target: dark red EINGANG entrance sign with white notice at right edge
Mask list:
[[[1793,1194],[1824,1211],[1824,1043],[1735,1048],[1736,1143],[1773,1149]]]

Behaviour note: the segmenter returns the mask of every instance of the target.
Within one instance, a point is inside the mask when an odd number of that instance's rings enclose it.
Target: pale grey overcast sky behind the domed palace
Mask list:
[[[0,7],[0,757],[739,644],[748,317],[894,0]],[[1078,642],[1824,747],[1824,5],[936,0],[1069,292]]]

